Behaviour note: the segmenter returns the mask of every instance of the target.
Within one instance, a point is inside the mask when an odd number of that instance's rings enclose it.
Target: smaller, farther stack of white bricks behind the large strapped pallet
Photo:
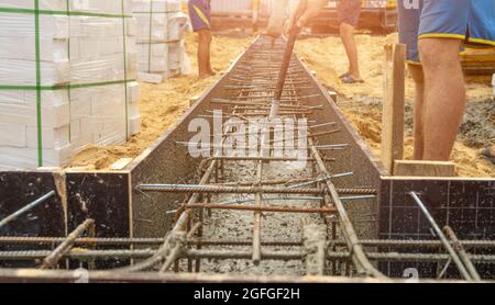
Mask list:
[[[132,0],[138,22],[139,79],[160,83],[190,72],[185,49],[188,18],[180,0]]]

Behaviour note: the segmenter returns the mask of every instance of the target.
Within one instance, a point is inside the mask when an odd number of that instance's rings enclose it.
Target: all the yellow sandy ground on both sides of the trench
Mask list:
[[[215,37],[212,44],[212,65],[219,72],[217,77],[198,80],[196,75],[182,76],[166,80],[162,84],[141,83],[142,100],[140,111],[143,116],[141,134],[119,146],[91,146],[78,154],[70,167],[86,170],[108,169],[121,158],[135,158],[167,128],[174,125],[188,108],[189,99],[201,93],[220,77],[231,60],[250,44],[250,38]],[[317,72],[318,79],[333,88],[344,99],[341,109],[367,140],[375,154],[380,154],[381,140],[381,99],[383,97],[383,45],[395,43],[396,35],[358,35],[361,50],[360,64],[365,83],[342,84],[338,77],[346,70],[344,49],[338,37],[308,38],[298,42],[297,52],[306,64]],[[193,70],[196,71],[196,38],[187,36],[187,52],[190,55]],[[411,79],[407,79],[406,95],[414,97]],[[490,78],[469,79],[470,106],[466,122],[461,128],[453,158],[458,173],[463,177],[494,177],[495,167],[480,157],[480,149],[495,143],[495,103],[493,101]],[[410,102],[407,117],[406,157],[413,155]]]

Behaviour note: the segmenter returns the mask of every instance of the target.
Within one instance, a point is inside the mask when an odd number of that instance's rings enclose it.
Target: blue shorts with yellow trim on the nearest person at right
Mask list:
[[[399,41],[409,64],[420,64],[421,38],[454,38],[469,45],[495,45],[494,0],[398,1]]]

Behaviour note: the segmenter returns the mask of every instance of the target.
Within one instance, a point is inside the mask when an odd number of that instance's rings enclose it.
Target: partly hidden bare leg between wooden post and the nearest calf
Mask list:
[[[425,149],[424,136],[424,114],[425,114],[425,77],[422,75],[422,67],[420,65],[409,65],[409,71],[415,81],[415,160],[422,160]]]

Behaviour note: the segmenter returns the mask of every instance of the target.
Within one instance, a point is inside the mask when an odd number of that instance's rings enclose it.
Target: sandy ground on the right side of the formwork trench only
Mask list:
[[[318,79],[333,88],[343,101],[339,103],[346,117],[380,155],[381,101],[383,98],[383,46],[397,42],[397,35],[358,35],[361,72],[364,83],[343,84],[339,76],[346,71],[345,50],[339,37],[308,38],[299,41],[297,52],[306,64],[317,72]],[[495,101],[491,77],[469,77],[470,100],[464,124],[453,151],[453,160],[461,177],[495,177],[495,166],[480,156],[480,150],[495,143]],[[406,158],[413,157],[413,111],[414,82],[406,80],[407,134]]]

